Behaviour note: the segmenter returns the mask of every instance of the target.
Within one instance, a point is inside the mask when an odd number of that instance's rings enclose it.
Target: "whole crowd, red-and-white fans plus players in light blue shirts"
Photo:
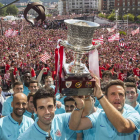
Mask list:
[[[95,98],[55,96],[55,48],[58,39],[67,39],[66,25],[59,26],[55,18],[42,27],[31,27],[23,20],[21,26],[14,25],[18,35],[0,36],[0,140],[140,139],[140,38],[139,33],[131,34],[139,26],[124,28],[128,34],[114,42],[108,37],[119,29],[113,33],[106,29],[112,24],[95,30],[94,39],[103,35],[98,48],[100,78],[91,73]],[[49,21],[57,27],[48,28]],[[4,30],[13,28],[8,21],[3,25]],[[46,63],[41,60],[44,53],[49,56]],[[65,49],[65,53],[70,63],[73,52]],[[88,54],[82,62],[89,67]],[[13,91],[7,99],[2,91],[5,85]]]

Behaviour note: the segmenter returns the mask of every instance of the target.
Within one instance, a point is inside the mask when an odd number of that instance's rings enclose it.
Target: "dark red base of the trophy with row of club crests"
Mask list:
[[[95,81],[90,81],[88,77],[69,76],[65,78],[66,72],[62,69],[61,93],[64,96],[93,95]]]

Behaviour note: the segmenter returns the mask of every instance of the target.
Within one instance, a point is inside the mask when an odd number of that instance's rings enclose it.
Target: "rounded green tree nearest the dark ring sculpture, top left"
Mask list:
[[[18,8],[13,4],[9,5],[7,7],[6,13],[10,14],[10,15],[17,15],[18,14]]]

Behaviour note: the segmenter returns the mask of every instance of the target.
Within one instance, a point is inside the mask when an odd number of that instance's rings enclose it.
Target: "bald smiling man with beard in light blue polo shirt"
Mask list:
[[[0,119],[0,140],[16,140],[33,123],[33,119],[24,116],[27,107],[27,96],[17,93],[11,103],[13,112]]]

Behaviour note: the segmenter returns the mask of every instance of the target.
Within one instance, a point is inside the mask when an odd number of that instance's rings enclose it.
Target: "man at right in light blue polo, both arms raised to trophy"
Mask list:
[[[125,109],[125,86],[120,80],[110,81],[106,86],[105,96],[101,91],[99,78],[95,79],[94,96],[97,97],[103,110],[82,118],[84,101],[74,97],[77,108],[72,112],[69,127],[72,130],[95,128],[95,140],[138,140],[140,115],[132,109]]]

